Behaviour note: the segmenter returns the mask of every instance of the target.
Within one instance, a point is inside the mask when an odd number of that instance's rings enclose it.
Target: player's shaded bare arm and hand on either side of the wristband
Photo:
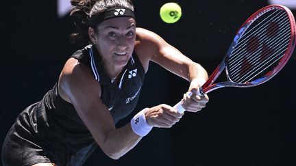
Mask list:
[[[116,128],[110,111],[103,104],[101,86],[93,79],[90,70],[77,59],[69,59],[59,80],[59,93],[71,102],[101,150],[117,159],[130,151],[141,137],[132,130],[131,124]],[[145,111],[149,125],[171,127],[180,120],[181,114],[168,105],[159,105]]]

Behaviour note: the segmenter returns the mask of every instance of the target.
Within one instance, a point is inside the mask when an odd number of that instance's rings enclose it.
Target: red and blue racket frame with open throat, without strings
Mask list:
[[[248,83],[233,82],[230,79],[229,74],[228,74],[227,57],[231,56],[230,54],[232,52],[232,49],[234,49],[234,46],[237,44],[238,39],[240,38],[240,36],[243,36],[243,33],[245,33],[245,30],[251,25],[251,23],[253,23],[260,15],[264,14],[265,12],[268,12],[269,9],[272,10],[273,8],[280,8],[281,10],[284,10],[286,12],[286,14],[288,15],[288,19],[290,20],[291,37],[290,37],[290,43],[288,44],[288,49],[286,49],[286,52],[284,53],[284,57],[282,57],[280,59],[280,61],[278,62],[278,65],[271,72],[268,72],[267,74],[265,74],[265,76],[262,77],[261,79],[257,79],[255,81],[251,81]],[[280,70],[282,70],[282,68],[285,66],[286,62],[288,61],[288,59],[290,59],[290,57],[293,53],[294,47],[295,47],[295,36],[296,36],[296,34],[295,34],[295,18],[293,16],[293,13],[291,12],[291,10],[286,8],[284,5],[277,5],[277,4],[268,5],[264,8],[261,8],[260,10],[258,10],[254,14],[252,14],[245,21],[245,23],[243,23],[243,25],[240,26],[240,28],[236,32],[236,36],[235,36],[234,40],[232,41],[232,44],[230,45],[230,49],[228,49],[228,51],[227,51],[226,56],[223,58],[221,64],[214,70],[214,72],[212,72],[208,81],[206,81],[206,83],[204,83],[204,85],[202,85],[199,88],[199,94],[204,95],[209,92],[212,92],[214,89],[219,89],[221,87],[254,87],[256,85],[260,85],[262,83],[265,83],[266,81],[269,81],[269,79],[274,77],[275,74],[277,74],[278,72],[280,72]],[[214,83],[214,81],[216,81],[216,79],[219,77],[221,72],[223,72],[224,68],[225,68],[225,72],[226,72],[226,76],[227,76],[227,81],[220,82],[220,83]]]

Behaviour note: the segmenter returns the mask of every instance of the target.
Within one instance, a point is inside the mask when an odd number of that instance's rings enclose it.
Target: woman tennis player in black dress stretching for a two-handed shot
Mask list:
[[[193,94],[208,79],[199,64],[156,33],[136,27],[131,1],[71,3],[79,30],[72,41],[87,44],[69,57],[53,89],[18,115],[3,143],[4,166],[83,165],[97,147],[118,159],[153,127],[173,126],[183,114],[162,104],[115,127],[136,107],[150,61],[190,81]],[[182,99],[192,112],[207,102],[208,96],[188,93]]]

